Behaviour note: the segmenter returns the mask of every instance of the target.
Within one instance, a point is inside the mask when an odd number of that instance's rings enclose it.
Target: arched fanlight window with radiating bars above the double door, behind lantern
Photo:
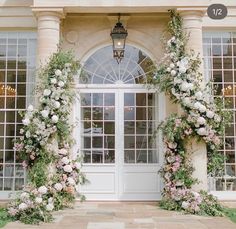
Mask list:
[[[127,45],[120,62],[112,56],[112,46],[96,51],[83,67],[81,84],[146,84],[153,62],[143,51]]]

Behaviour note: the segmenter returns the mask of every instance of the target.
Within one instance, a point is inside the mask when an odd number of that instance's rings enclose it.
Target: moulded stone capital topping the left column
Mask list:
[[[63,8],[44,8],[44,7],[33,7],[32,12],[39,18],[41,16],[54,16],[59,19],[65,18],[65,12]]]

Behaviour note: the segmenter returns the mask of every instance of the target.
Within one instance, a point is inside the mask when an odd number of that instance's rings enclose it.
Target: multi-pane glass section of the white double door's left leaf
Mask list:
[[[115,94],[81,94],[84,163],[115,163]]]

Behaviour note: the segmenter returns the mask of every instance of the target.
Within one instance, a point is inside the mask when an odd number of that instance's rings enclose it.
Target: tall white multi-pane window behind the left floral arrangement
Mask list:
[[[33,102],[34,32],[0,32],[0,191],[22,188],[25,171],[13,149],[22,127],[18,111]]]

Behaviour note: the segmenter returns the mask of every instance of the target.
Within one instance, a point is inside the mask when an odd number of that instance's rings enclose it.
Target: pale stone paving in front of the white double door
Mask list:
[[[5,229],[236,229],[223,217],[183,215],[148,202],[84,202],[56,212],[52,223],[39,226],[19,222]]]

